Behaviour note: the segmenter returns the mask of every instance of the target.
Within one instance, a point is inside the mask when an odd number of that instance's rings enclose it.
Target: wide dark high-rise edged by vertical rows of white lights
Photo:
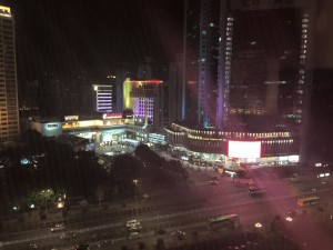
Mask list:
[[[300,130],[311,83],[313,1],[221,1],[221,129]]]

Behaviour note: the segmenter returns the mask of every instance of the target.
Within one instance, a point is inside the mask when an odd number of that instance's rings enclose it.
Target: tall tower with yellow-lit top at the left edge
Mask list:
[[[19,132],[14,21],[10,8],[0,6],[0,141]]]

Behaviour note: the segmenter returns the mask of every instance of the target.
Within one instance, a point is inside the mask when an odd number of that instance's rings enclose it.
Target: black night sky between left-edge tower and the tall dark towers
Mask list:
[[[181,0],[12,0],[20,74],[113,69],[181,51]],[[4,2],[6,3],[6,2]]]

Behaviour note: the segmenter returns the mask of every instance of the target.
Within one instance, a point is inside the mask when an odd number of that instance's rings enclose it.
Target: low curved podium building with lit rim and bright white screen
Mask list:
[[[188,154],[219,160],[224,167],[299,162],[297,138],[290,132],[223,132],[173,123],[165,129],[165,140],[170,146],[188,151]]]

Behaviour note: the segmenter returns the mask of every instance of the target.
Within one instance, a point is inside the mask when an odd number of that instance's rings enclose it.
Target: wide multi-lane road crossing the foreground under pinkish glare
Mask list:
[[[270,224],[276,214],[281,214],[283,219],[289,209],[296,209],[297,197],[312,194],[312,192],[304,192],[302,183],[295,186],[287,180],[276,179],[274,176],[263,174],[258,178],[256,181],[266,190],[265,194],[259,198],[250,197],[246,186],[226,178],[219,180],[218,184],[210,184],[208,182],[209,176],[204,173],[192,174],[192,182],[188,184],[181,183],[173,189],[169,188],[168,191],[160,191],[155,199],[159,198],[163,202],[155,209],[141,209],[134,213],[133,211],[124,211],[122,214],[111,213],[68,224],[67,230],[77,233],[75,238],[69,240],[59,239],[60,233],[51,233],[50,228],[7,234],[2,237],[2,248],[19,250],[26,249],[29,242],[36,242],[41,247],[61,246],[65,249],[65,246],[71,248],[80,242],[91,242],[94,246],[99,238],[105,237],[114,241],[113,247],[135,244],[139,240],[130,241],[124,227],[125,221],[130,219],[141,221],[143,227],[142,240],[145,243],[155,243],[158,237],[154,229],[157,227],[167,228],[167,233],[162,236],[167,244],[174,243],[170,232],[175,229],[183,229],[186,232],[186,238],[190,238],[193,231],[198,231],[201,238],[211,237],[212,233],[206,228],[206,219],[231,212],[240,216],[245,230],[254,230],[255,222],[263,224],[261,230],[270,230]],[[331,186],[323,186],[316,180],[309,181],[303,186],[315,187],[316,194],[321,197],[323,202],[331,201]],[[174,199],[175,196],[178,199]],[[180,201],[184,201],[184,198],[186,198],[186,202],[181,203]],[[303,226],[306,226],[307,230],[304,230]],[[315,221],[310,219],[295,220],[287,227],[291,236],[297,239],[297,242],[304,243],[306,248],[316,243],[317,238],[311,241],[310,236],[317,233],[320,233],[317,237],[323,239],[325,246],[332,247],[331,240],[322,232]],[[300,228],[302,228],[302,233],[300,233]],[[305,247],[304,249],[306,249]],[[333,247],[327,249],[333,249]]]

